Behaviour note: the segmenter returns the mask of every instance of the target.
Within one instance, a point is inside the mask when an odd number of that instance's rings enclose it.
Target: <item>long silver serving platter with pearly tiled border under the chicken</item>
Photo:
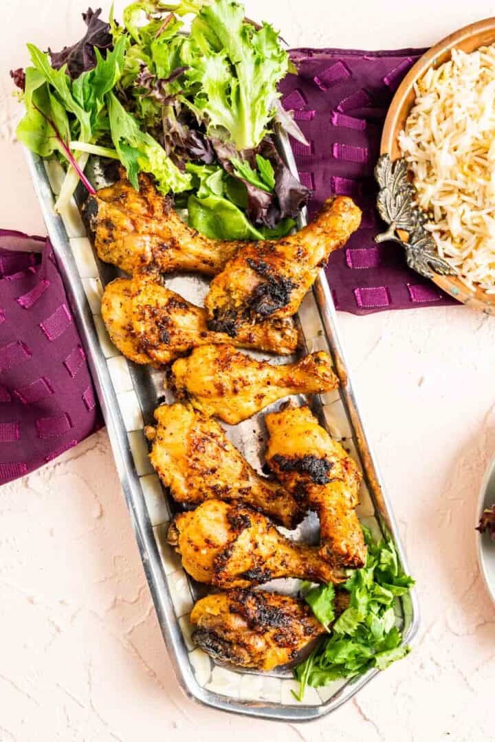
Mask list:
[[[289,142],[282,134],[278,135],[278,147],[289,167],[297,173]],[[258,718],[306,721],[337,709],[369,683],[378,671],[370,670],[350,681],[335,681],[321,689],[308,688],[304,700],[299,703],[292,694],[292,690],[297,690],[298,683],[292,679],[289,668],[268,673],[239,670],[210,659],[191,642],[189,613],[194,601],[210,588],[191,580],[183,571],[180,558],[166,544],[168,522],[177,511],[177,505],[163,491],[160,480],[151,468],[143,433],[145,424],[153,421],[158,400],[171,401],[171,393],[163,389],[165,374],[126,361],[111,344],[100,316],[100,299],[103,286],[119,272],[113,266],[101,263],[94,255],[75,201],[63,214],[55,213],[53,195],[59,192],[63,175],[61,166],[55,161],[43,162],[29,151],[27,161],[82,344],[88,355],[142,564],[180,686],[192,700],[206,706]],[[305,213],[301,214],[298,226],[304,223]],[[177,275],[167,280],[167,286],[189,301],[200,304],[206,295],[208,282],[197,276]],[[391,536],[407,571],[390,502],[381,486],[364,435],[338,337],[335,307],[323,270],[312,292],[306,295],[301,305],[298,325],[301,353],[315,350],[329,352],[341,382],[340,390],[314,395],[308,401],[329,433],[341,441],[361,465],[364,472],[361,503],[358,506],[361,522],[376,536],[385,533]],[[258,358],[269,358],[256,355]],[[282,359],[271,360],[280,362]],[[306,400],[300,397],[298,401],[303,403]],[[277,409],[280,404],[271,405],[268,410]],[[266,440],[263,414],[266,411],[235,427],[225,426],[229,439],[258,470],[263,466]],[[295,540],[316,542],[318,520],[310,515],[296,531],[285,533]],[[299,586],[298,580],[275,580],[263,587],[297,594]],[[396,614],[404,643],[410,643],[419,626],[414,590],[397,602]]]

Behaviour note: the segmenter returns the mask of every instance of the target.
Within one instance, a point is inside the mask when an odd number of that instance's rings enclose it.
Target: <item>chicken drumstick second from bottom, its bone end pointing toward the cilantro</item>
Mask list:
[[[346,577],[321,559],[318,547],[286,539],[268,518],[240,502],[207,500],[180,513],[168,529],[168,543],[194,580],[217,588],[248,588],[278,577],[311,582]]]

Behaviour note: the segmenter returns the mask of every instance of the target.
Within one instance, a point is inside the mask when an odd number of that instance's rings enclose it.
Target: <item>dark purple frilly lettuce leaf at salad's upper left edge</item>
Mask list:
[[[64,47],[62,51],[53,52],[50,48],[50,59],[52,67],[59,70],[62,65],[67,65],[67,71],[71,79],[76,79],[82,72],[87,72],[96,67],[95,47],[100,51],[111,49],[113,39],[110,33],[110,24],[100,21],[102,12],[88,8],[87,13],[82,13],[87,28],[86,33],[78,42],[70,47]]]

